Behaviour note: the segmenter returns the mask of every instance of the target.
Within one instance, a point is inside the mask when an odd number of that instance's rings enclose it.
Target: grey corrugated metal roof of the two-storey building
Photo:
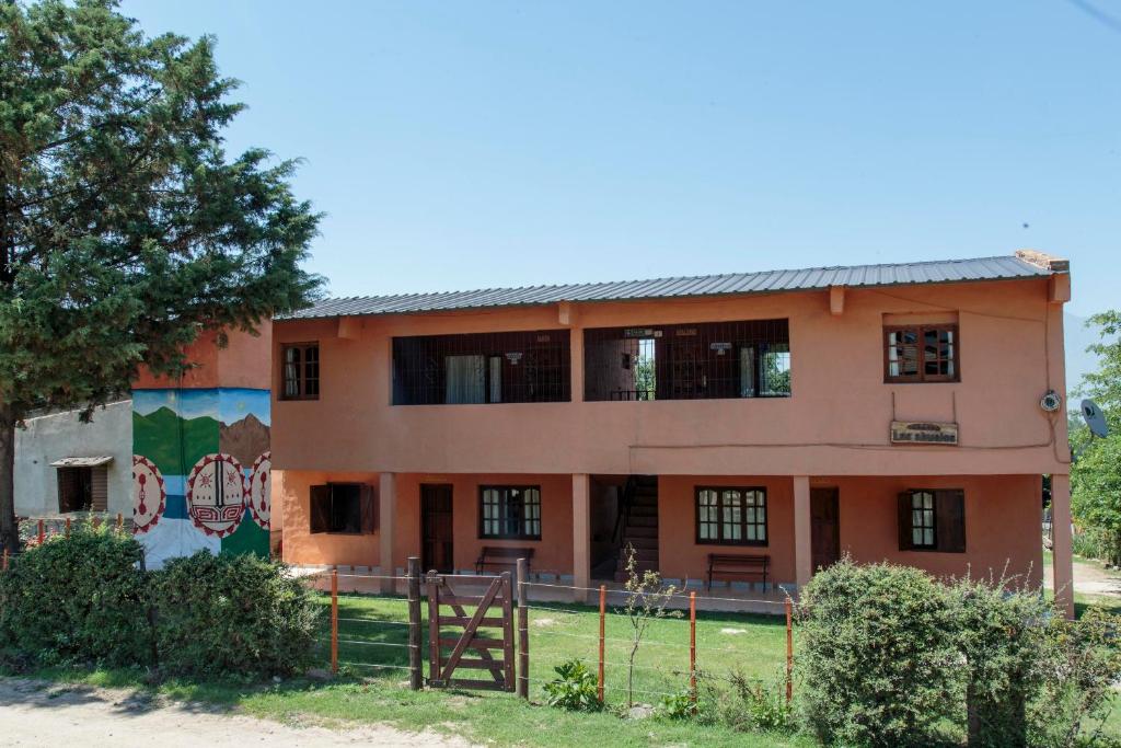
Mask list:
[[[969,280],[1003,280],[1050,275],[1050,270],[1018,257],[981,257],[965,260],[933,260],[893,265],[766,270],[723,275],[614,283],[581,283],[520,288],[482,288],[395,296],[327,298],[287,315],[307,320],[376,314],[418,314],[494,306],[530,306],[558,302],[613,302],[691,296],[723,296],[791,290],[818,290],[830,286],[867,288]]]

